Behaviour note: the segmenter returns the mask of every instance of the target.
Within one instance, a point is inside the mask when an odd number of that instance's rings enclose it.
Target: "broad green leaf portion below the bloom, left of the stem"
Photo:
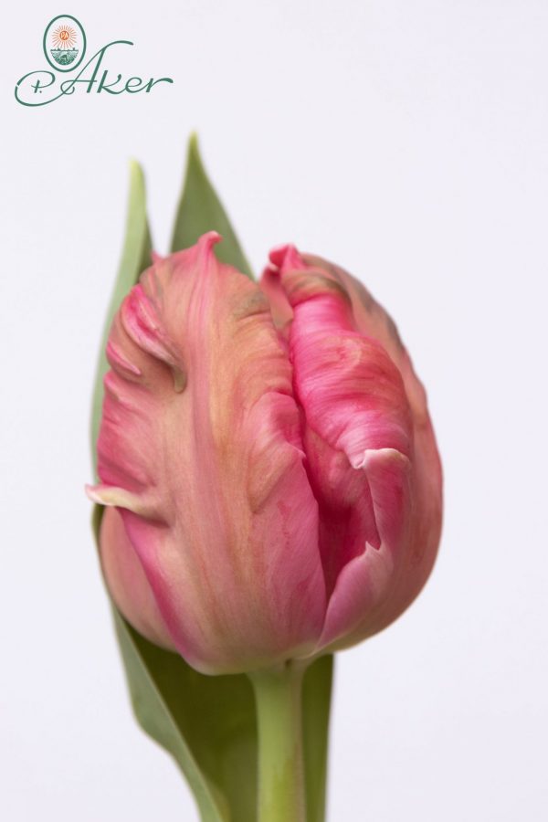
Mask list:
[[[253,822],[257,727],[248,678],[205,677],[117,622],[135,714],[174,755],[202,819]]]

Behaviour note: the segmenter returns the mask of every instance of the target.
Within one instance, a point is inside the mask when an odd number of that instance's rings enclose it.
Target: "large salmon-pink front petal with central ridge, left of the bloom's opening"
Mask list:
[[[308,653],[325,608],[290,364],[217,239],[159,261],[121,306],[95,491],[121,508],[176,648],[205,672]]]

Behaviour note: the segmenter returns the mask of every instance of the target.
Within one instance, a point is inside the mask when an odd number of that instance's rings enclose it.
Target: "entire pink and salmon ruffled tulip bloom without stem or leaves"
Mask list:
[[[385,311],[287,246],[260,284],[214,232],[157,258],[111,327],[103,571],[144,636],[205,673],[345,648],[434,563],[441,472]]]

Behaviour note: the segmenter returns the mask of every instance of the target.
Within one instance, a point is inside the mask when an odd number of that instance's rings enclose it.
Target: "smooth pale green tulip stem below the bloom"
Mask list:
[[[305,822],[301,662],[249,674],[258,721],[258,822]]]

